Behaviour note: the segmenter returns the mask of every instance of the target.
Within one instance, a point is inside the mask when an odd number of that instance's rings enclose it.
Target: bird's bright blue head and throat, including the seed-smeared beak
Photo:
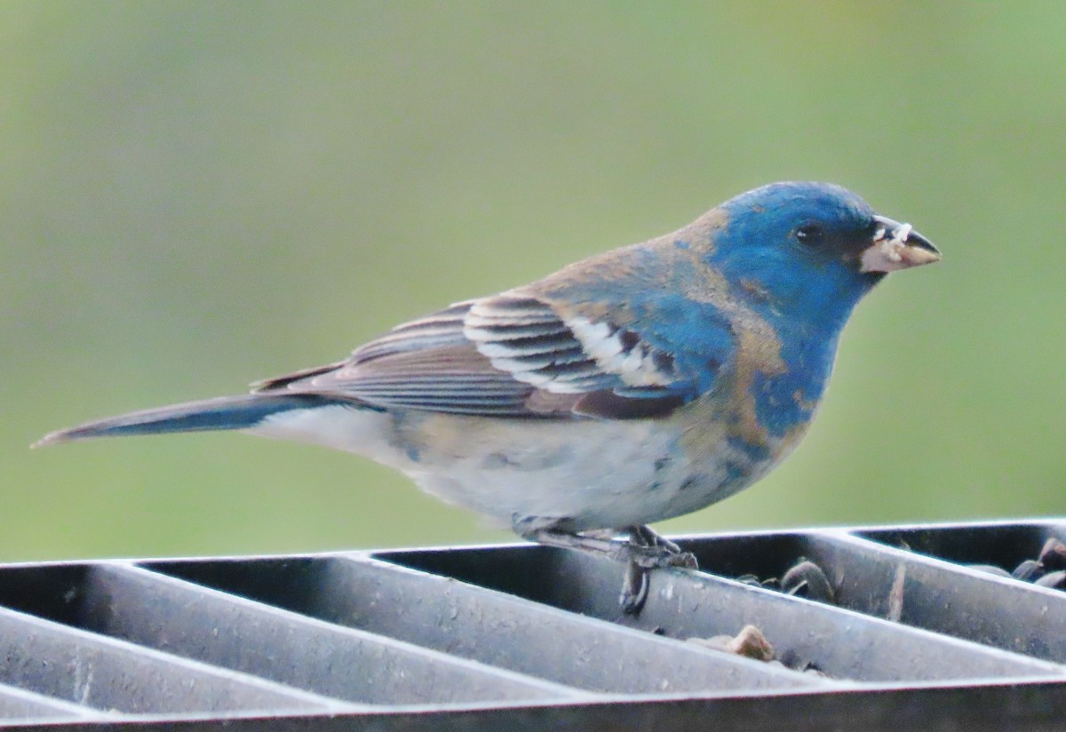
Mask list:
[[[722,212],[706,257],[777,341],[784,369],[755,373],[749,394],[760,425],[782,437],[812,417],[856,303],[888,272],[939,254],[909,225],[828,183],[773,183]]]

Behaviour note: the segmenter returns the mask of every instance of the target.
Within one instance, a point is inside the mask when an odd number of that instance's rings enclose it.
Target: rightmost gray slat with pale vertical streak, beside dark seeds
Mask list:
[[[1048,538],[1062,539],[1066,532],[1061,524],[854,532],[857,536],[852,530],[760,532],[697,537],[683,543],[699,557],[700,567],[727,576],[779,578],[801,557],[808,558],[836,588],[836,604],[874,617],[890,617],[893,585],[902,582],[894,600],[900,622],[1066,662],[1066,593],[953,564],[1011,569],[1035,558]]]

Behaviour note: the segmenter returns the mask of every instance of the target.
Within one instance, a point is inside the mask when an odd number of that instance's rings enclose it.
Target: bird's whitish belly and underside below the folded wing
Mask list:
[[[680,516],[772,467],[715,439],[714,425],[699,428],[698,456],[684,449],[685,426],[673,421],[499,420],[335,406],[280,412],[247,432],[365,455],[434,495],[524,532],[621,528]]]

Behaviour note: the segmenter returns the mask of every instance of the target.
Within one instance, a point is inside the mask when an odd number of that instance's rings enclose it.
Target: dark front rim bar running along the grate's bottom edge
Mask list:
[[[49,725],[50,732],[1059,732],[1066,684],[1001,682],[883,685],[861,692],[793,690],[734,697],[635,697],[564,704],[507,704],[367,714],[231,715],[221,719],[130,718]],[[39,729],[36,726],[10,729]]]

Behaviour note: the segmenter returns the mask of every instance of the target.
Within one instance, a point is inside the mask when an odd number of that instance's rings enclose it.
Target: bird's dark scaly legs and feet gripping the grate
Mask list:
[[[607,556],[626,564],[626,574],[618,597],[618,604],[627,615],[636,615],[644,607],[648,597],[648,570],[666,567],[696,569],[696,557],[682,552],[680,547],[665,539],[647,526],[635,525],[626,530],[629,540],[611,539],[587,534],[569,534],[553,528],[538,528],[526,532],[522,537],[561,549],[576,549],[599,556]]]

